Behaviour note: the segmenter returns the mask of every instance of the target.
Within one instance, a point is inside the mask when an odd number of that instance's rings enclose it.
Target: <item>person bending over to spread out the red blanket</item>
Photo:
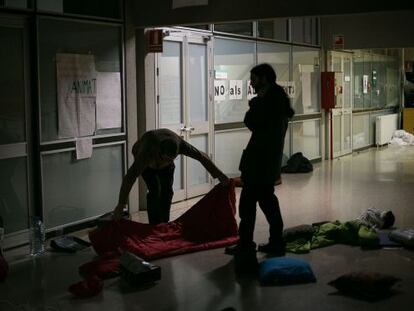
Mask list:
[[[170,220],[171,200],[174,195],[174,160],[179,154],[198,160],[214,178],[227,183],[228,177],[209,157],[168,129],[156,129],[142,135],[132,147],[134,163],[122,180],[114,219],[120,219],[126,207],[129,192],[139,175],[147,184],[147,213],[150,224]]]

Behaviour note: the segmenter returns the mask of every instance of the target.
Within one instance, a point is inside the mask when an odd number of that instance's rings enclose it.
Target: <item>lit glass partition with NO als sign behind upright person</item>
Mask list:
[[[230,176],[240,174],[240,155],[250,137],[243,118],[248,100],[255,96],[249,81],[250,69],[259,63],[268,63],[275,69],[277,83],[285,88],[296,111],[285,139],[283,165],[295,152],[302,152],[312,160],[321,158],[317,20],[299,24],[299,20],[293,23],[289,19],[258,21],[253,32],[257,38],[224,36],[221,25],[220,33],[215,35],[213,31],[214,156],[219,167]],[[292,36],[293,27],[296,27],[295,36]],[[231,93],[234,85],[240,85],[239,97]]]

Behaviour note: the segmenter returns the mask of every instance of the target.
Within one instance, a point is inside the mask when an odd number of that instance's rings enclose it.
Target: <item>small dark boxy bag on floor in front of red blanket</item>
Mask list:
[[[142,258],[124,252],[120,257],[121,277],[129,284],[139,286],[161,279],[161,267],[153,265]]]

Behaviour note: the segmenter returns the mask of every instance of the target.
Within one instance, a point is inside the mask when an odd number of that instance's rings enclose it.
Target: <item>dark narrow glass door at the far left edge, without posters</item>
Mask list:
[[[29,224],[29,83],[26,25],[0,16],[0,216],[4,246],[27,241]]]

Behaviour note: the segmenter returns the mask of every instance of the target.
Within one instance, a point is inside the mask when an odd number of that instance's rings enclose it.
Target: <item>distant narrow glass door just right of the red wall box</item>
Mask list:
[[[330,52],[329,70],[335,72],[336,106],[332,109],[332,157],[352,152],[352,54]]]

